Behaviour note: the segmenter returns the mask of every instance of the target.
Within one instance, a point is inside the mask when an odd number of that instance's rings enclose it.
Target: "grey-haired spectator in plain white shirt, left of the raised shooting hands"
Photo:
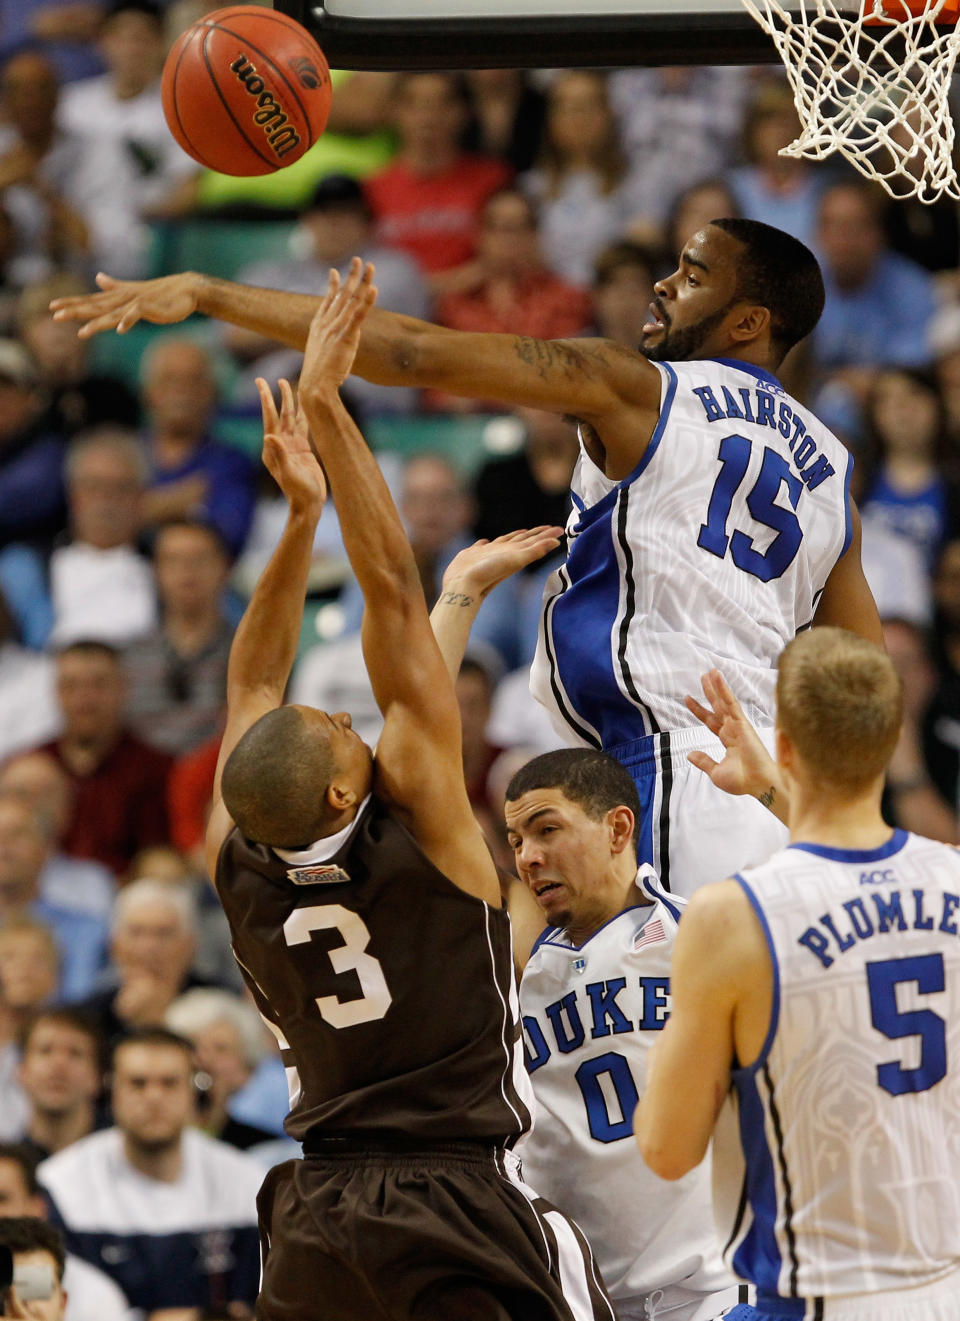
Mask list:
[[[70,445],[71,540],[50,557],[54,647],[79,638],[123,647],[154,626],[153,575],[137,550],[147,481],[133,432],[99,427]]]

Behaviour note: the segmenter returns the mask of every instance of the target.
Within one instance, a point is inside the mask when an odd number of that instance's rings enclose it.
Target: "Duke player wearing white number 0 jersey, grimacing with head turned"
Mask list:
[[[524,1177],[588,1235],[621,1321],[706,1321],[738,1303],[720,1259],[709,1160],[671,1185],[633,1143],[647,1053],[669,1012],[684,904],[652,868],[638,871],[639,822],[626,769],[589,749],[535,757],[507,789],[520,877],[510,909],[536,1098],[518,1155]]]

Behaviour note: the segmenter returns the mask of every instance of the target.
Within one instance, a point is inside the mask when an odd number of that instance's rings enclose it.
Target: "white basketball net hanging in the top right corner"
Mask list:
[[[794,90],[803,132],[783,156],[839,152],[891,197],[960,199],[948,106],[960,52],[955,4],[930,0],[916,15],[905,0],[868,0],[866,15],[849,0],[742,4],[772,38]],[[940,16],[947,26],[938,28]]]

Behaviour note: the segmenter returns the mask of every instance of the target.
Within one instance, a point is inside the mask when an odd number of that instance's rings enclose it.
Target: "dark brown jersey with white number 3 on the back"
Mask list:
[[[236,960],[287,1066],[287,1131],[512,1145],[532,1094],[510,918],[376,798],[353,824],[322,863],[236,828],[217,861]]]

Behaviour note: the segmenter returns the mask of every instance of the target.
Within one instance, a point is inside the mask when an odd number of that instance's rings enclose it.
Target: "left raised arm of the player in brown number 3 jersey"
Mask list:
[[[310,448],[306,420],[289,382],[280,382],[280,412],[265,380],[257,380],[263,410],[263,461],[287,497],[287,526],[254,588],[234,634],[227,667],[227,723],[217,762],[206,857],[214,875],[231,822],[221,798],[221,775],[243,734],[283,704],[297,655],[313,557],[313,539],[326,501],[324,470]]]

